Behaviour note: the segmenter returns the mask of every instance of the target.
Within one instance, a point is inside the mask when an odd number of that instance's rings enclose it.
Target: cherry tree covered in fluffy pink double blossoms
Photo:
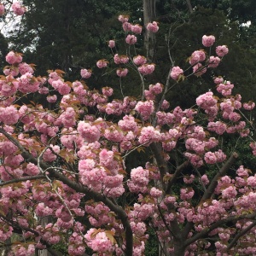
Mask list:
[[[17,15],[21,9],[14,7]],[[221,77],[189,109],[171,109],[167,101],[177,83],[217,67],[228,47],[214,46],[215,38],[205,35],[187,67],[171,66],[166,84],[146,84],[157,66],[136,54],[142,27],[125,15],[119,21],[129,54],[119,53],[111,40],[113,59],[96,66],[112,68],[120,81],[137,73],[142,96],[114,99],[111,87],[90,90],[89,67],[71,82],[61,70],[35,76],[34,65],[15,51],[6,56],[9,65],[0,77],[0,242],[17,256],[43,249],[58,255],[59,244],[68,255],[89,249],[93,255],[139,256],[154,230],[160,255],[256,253],[256,176],[246,163],[236,165],[238,143],[250,141],[246,146],[256,155],[255,103],[233,96],[234,84]],[[158,28],[154,21],[143,27]],[[32,101],[38,95],[42,102]],[[236,143],[224,146],[227,137]],[[43,225],[45,218],[51,221]]]

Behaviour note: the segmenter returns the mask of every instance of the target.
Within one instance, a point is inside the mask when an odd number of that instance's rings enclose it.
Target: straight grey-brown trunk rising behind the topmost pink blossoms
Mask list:
[[[154,21],[155,15],[155,2],[156,0],[143,0],[143,19],[144,27],[148,25],[149,22]],[[144,47],[147,51],[147,58],[149,61],[154,59],[154,49],[155,49],[155,35],[154,32],[146,31],[144,34]]]

